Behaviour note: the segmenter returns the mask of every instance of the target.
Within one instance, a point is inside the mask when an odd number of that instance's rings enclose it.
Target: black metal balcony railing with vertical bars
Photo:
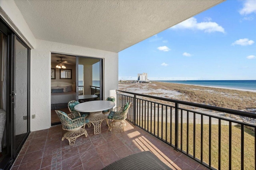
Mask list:
[[[132,102],[128,121],[204,166],[255,169],[256,126],[242,121],[255,120],[255,113],[121,90],[116,94],[118,107]]]

